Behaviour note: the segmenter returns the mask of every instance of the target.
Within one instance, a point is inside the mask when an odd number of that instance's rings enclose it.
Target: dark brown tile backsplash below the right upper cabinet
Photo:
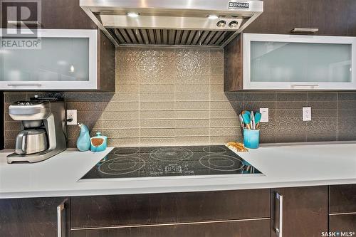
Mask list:
[[[356,92],[226,94],[236,112],[269,108],[269,122],[261,125],[261,142],[356,140]],[[235,98],[241,100],[236,103]],[[305,106],[312,107],[312,121],[302,120],[302,107]]]

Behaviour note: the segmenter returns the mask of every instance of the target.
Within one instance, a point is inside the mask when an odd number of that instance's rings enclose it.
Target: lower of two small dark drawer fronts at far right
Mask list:
[[[330,216],[330,231],[356,232],[356,214]]]

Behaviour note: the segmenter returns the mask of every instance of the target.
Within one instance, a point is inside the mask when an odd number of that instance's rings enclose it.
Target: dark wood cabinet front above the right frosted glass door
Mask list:
[[[246,33],[289,34],[293,28],[318,28],[320,36],[356,36],[355,0],[265,0],[263,14]]]

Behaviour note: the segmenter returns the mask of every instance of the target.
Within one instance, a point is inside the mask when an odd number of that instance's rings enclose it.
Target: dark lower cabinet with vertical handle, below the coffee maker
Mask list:
[[[0,236],[69,236],[69,199],[0,199]]]

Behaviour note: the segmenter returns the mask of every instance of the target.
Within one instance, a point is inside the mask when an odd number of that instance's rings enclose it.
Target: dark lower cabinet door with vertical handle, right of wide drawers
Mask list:
[[[328,186],[272,189],[271,236],[320,237],[328,231]]]

